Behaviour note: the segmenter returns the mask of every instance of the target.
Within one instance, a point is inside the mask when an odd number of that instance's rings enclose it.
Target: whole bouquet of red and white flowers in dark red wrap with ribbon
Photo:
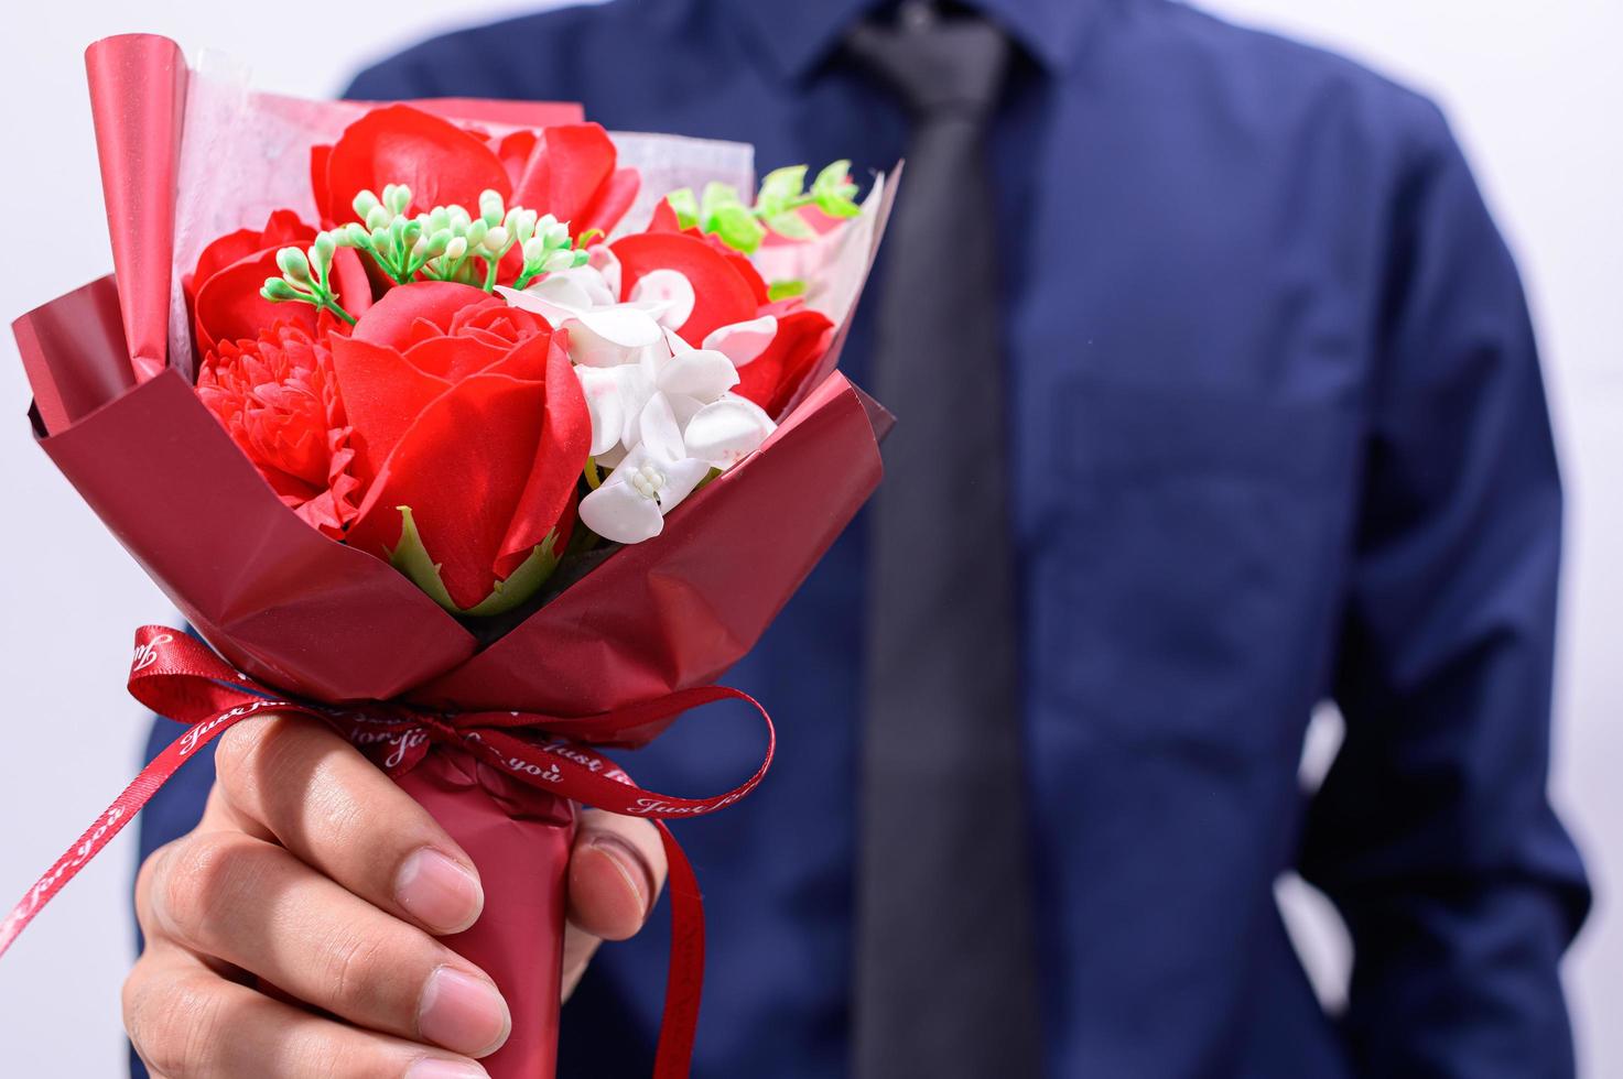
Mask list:
[[[716,686],[880,479],[889,419],[836,370],[883,227],[847,162],[610,135],[573,105],[308,102],[86,54],[115,277],[15,323],[41,446],[196,634],[144,626],[130,690],[192,724],[0,923],[0,951],[195,750],[315,716],[479,865],[450,944],[550,1076],[575,803],[649,818],[599,754]],[[758,704],[755,704],[760,709]],[[764,709],[760,709],[764,719]],[[659,1074],[703,961],[675,918]]]

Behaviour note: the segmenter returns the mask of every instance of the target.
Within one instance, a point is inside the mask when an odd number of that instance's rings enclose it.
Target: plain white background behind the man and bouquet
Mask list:
[[[656,3],[657,0],[644,0]],[[154,31],[221,47],[260,86],[323,96],[433,31],[539,5],[479,0],[10,0],[0,13],[0,315],[110,266],[80,52]],[[1568,965],[1587,1076],[1623,1076],[1623,3],[1617,0],[1212,0],[1240,21],[1354,57],[1441,101],[1516,250],[1543,342],[1569,490],[1555,797],[1599,905]],[[136,15],[138,11],[138,15]],[[274,15],[271,15],[274,11]],[[28,389],[0,341],[0,902],[32,883],[133,774],[143,719],[123,694],[131,628],[164,597],[31,445]],[[71,652],[68,643],[73,643]],[[120,1074],[131,948],[120,839],[0,964],[0,1074]],[[1298,883],[1282,901],[1321,991],[1345,949]]]

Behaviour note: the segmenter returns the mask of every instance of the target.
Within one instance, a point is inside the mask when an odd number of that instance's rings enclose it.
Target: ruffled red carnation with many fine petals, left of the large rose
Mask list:
[[[222,342],[198,368],[198,398],[287,506],[342,535],[360,484],[323,342],[289,325]]]

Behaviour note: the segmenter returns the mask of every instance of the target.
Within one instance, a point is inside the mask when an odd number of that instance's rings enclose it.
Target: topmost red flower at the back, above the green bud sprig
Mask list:
[[[510,206],[570,222],[576,235],[612,229],[638,188],[636,170],[615,167],[613,143],[597,123],[490,140],[411,105],[373,109],[336,144],[313,148],[310,178],[329,224],[355,221],[351,203],[360,191],[404,183],[412,191],[409,213],[451,203],[472,209],[479,193],[492,190]]]

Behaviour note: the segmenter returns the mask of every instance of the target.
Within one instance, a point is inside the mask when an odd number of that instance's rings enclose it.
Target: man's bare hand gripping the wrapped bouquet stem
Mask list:
[[[154,1079],[463,1079],[511,1029],[490,978],[437,936],[484,907],[472,862],[349,743],[291,716],[219,742],[196,831],[136,879],[146,951],[123,1021]],[[588,811],[570,860],[568,995],[664,883],[652,824]],[[278,987],[323,1014],[253,988]]]

